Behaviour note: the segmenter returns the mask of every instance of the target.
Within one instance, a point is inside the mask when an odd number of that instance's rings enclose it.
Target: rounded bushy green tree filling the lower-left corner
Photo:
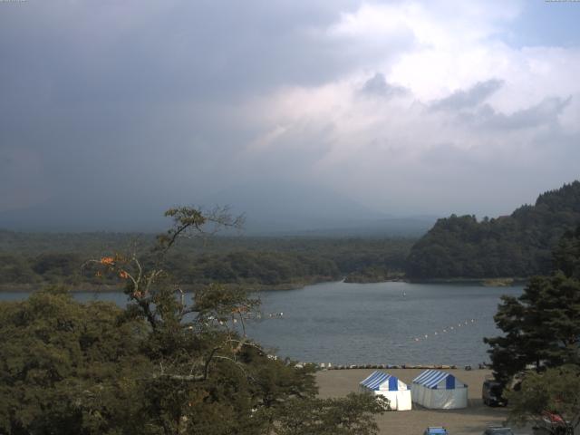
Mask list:
[[[149,362],[143,324],[58,288],[0,304],[0,432],[121,433]],[[125,432],[128,433],[128,432]]]

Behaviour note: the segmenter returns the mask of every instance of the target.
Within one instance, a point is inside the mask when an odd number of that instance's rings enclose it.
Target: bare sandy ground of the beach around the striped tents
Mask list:
[[[349,392],[359,391],[359,382],[373,372],[373,369],[330,370],[317,372],[316,381],[320,396],[341,397]],[[411,384],[422,370],[395,369],[386,372]],[[377,418],[383,435],[421,435],[428,426],[445,426],[449,435],[482,434],[489,424],[501,424],[507,419],[506,408],[490,408],[481,401],[481,386],[489,370],[448,370],[469,386],[469,406],[463,410],[427,410],[415,406],[412,411],[385,412]],[[516,434],[531,433],[530,430],[513,428]]]

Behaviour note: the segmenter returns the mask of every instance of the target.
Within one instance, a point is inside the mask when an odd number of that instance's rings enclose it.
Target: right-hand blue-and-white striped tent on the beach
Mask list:
[[[468,386],[448,372],[426,370],[411,386],[412,401],[434,410],[467,408]]]

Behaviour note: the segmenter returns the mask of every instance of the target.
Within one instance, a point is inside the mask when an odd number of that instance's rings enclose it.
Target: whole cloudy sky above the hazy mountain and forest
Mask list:
[[[580,178],[579,22],[572,1],[0,0],[0,226],[289,190],[508,214]]]

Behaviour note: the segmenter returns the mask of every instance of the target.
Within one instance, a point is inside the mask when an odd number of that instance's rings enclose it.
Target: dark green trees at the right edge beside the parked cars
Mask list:
[[[554,252],[556,271],[533,277],[517,298],[503,297],[494,319],[505,334],[485,339],[500,382],[523,376],[508,395],[513,420],[538,422],[550,412],[580,425],[579,239],[580,227],[566,233]]]

